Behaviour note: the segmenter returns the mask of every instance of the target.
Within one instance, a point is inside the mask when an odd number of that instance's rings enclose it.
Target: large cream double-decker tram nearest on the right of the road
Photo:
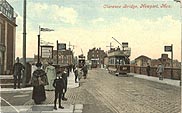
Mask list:
[[[130,72],[130,48],[118,47],[117,49],[111,49],[108,51],[108,71],[116,76],[119,74],[127,74]]]

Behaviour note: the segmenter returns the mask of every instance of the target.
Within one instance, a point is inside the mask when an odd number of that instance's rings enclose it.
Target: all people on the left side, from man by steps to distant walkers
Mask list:
[[[14,89],[20,88],[21,83],[21,75],[23,75],[23,71],[25,66],[19,62],[19,58],[17,57],[16,63],[13,66],[13,76],[14,76]],[[40,104],[46,100],[46,90],[47,91],[55,91],[55,99],[54,99],[54,109],[57,110],[57,99],[59,102],[59,108],[64,109],[61,105],[61,100],[66,101],[65,94],[67,92],[67,84],[68,84],[68,76],[70,71],[75,74],[75,83],[81,79],[81,71],[83,71],[84,79],[87,77],[87,66],[84,65],[80,71],[78,71],[78,67],[76,65],[65,67],[63,70],[56,69],[52,62],[49,62],[49,65],[43,70],[42,64],[37,63],[36,67],[34,67],[31,80],[29,83],[33,86],[32,91],[32,99],[35,104]]]

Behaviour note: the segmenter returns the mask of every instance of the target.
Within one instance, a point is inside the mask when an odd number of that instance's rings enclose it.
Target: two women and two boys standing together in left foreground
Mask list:
[[[67,100],[65,93],[68,84],[68,70],[64,68],[63,71],[56,70],[52,66],[52,62],[46,67],[45,71],[41,69],[41,63],[36,64],[37,69],[33,72],[31,84],[33,86],[32,99],[36,104],[45,101],[47,91],[55,91],[54,109],[57,110],[57,99],[59,98],[59,108],[64,109],[61,105],[61,100]]]

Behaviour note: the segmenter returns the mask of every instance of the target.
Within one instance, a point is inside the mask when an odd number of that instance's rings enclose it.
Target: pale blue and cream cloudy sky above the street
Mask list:
[[[22,57],[23,0],[7,0],[17,14],[16,56]],[[164,46],[173,44],[174,59],[181,61],[180,4],[173,0],[27,0],[26,56],[37,54],[37,35],[53,43],[70,42],[75,55],[94,47],[109,50],[128,42],[130,59],[140,55],[158,59]]]

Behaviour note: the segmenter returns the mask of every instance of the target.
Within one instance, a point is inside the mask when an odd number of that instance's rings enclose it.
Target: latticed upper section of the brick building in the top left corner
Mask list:
[[[13,20],[14,9],[6,0],[0,0],[0,12],[8,19]]]

